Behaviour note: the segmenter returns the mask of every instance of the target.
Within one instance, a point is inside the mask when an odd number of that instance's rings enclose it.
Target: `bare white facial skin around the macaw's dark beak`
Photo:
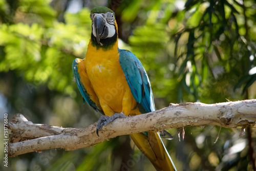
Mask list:
[[[108,27],[109,34],[108,34],[108,36],[106,38],[113,37],[115,32],[116,32],[116,30],[115,30],[115,20],[114,20],[114,18],[112,18],[113,14],[112,15],[108,15],[108,13],[107,13],[107,15],[105,13],[93,14],[93,18],[91,18],[92,19],[93,35],[96,37],[96,31],[95,31],[95,26],[94,26],[93,20],[98,15],[105,20],[105,27]],[[109,17],[111,17],[111,18],[109,18]]]

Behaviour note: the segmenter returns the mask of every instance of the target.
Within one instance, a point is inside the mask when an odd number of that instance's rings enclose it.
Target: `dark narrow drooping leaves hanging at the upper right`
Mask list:
[[[178,61],[183,60],[181,65],[178,65],[179,77],[187,74],[186,63],[188,61],[191,62],[191,66],[195,70],[193,71],[195,74],[192,74],[195,79],[192,79],[190,84],[196,84],[190,88],[190,92],[197,92],[197,86],[206,86],[206,82],[201,84],[201,78],[204,81],[214,77],[218,81],[218,79],[223,79],[225,74],[236,72],[238,75],[232,79],[238,80],[238,77],[241,78],[245,72],[244,70],[239,72],[238,68],[245,69],[249,67],[250,69],[253,67],[252,63],[255,65],[255,60],[248,63],[249,56],[255,52],[255,46],[249,48],[250,50],[244,47],[244,42],[251,44],[255,40],[253,40],[253,36],[241,37],[240,35],[242,33],[240,31],[241,27],[247,27],[248,29],[247,23],[241,20],[241,18],[247,19],[248,17],[243,15],[244,10],[247,10],[244,5],[239,4],[238,6],[236,3],[233,4],[225,0],[219,2],[211,0],[206,2],[187,1],[185,10],[185,15],[189,15],[189,18],[184,19],[185,28],[174,35],[176,37],[175,56]],[[249,30],[243,32],[243,35],[248,33]],[[181,37],[187,37],[186,49],[181,45]],[[241,41],[240,37],[243,41]],[[184,45],[184,41],[182,44]],[[242,56],[238,58],[238,54]],[[221,75],[214,71],[214,68],[218,65],[223,66],[225,69]],[[207,70],[210,72],[207,72]],[[245,84],[241,93],[244,93],[255,81],[251,78],[252,76],[250,76],[251,79],[244,79],[243,77],[234,87],[236,89]],[[184,90],[187,90],[184,84],[181,85],[183,85]],[[197,99],[197,93],[193,94]]]

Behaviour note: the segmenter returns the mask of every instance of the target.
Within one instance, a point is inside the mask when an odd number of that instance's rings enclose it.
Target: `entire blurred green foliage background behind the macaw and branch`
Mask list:
[[[119,48],[131,50],[146,69],[157,109],[170,102],[256,98],[254,1],[85,2],[0,0],[1,116],[22,113],[34,123],[63,127],[98,120],[100,114],[82,104],[71,65],[86,54],[90,9],[102,5],[116,13]],[[219,130],[185,127],[180,141],[182,129],[169,130],[174,140],[164,143],[177,169],[253,170],[255,129],[239,137],[241,129],[222,128],[214,143]],[[21,155],[9,158],[9,166],[0,168],[154,170],[129,136],[72,152]]]

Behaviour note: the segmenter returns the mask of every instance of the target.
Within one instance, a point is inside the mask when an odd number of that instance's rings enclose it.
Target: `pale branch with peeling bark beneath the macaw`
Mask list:
[[[63,128],[34,124],[22,114],[16,114],[8,129],[9,157],[50,148],[67,151],[88,147],[120,135],[145,131],[160,131],[183,126],[217,125],[226,128],[254,126],[256,99],[216,104],[170,103],[167,108],[127,118],[118,118],[96,135],[97,122],[84,128]]]

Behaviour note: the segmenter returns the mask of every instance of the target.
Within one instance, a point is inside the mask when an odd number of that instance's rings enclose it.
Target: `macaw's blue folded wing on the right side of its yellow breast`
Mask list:
[[[135,100],[145,112],[155,111],[150,80],[139,59],[130,51],[118,49],[119,63]]]

